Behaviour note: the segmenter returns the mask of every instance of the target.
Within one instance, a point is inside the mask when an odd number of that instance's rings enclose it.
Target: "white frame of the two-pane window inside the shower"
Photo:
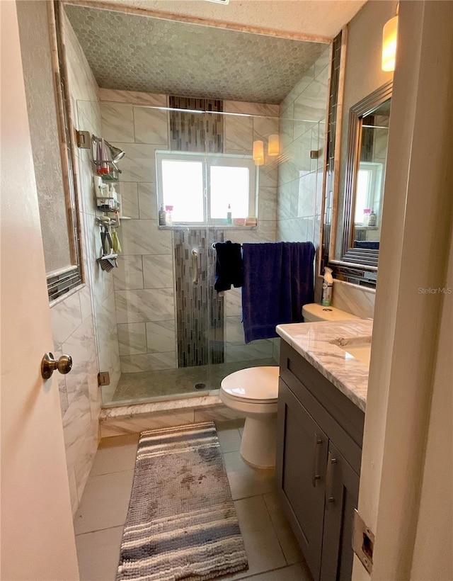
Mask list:
[[[193,161],[202,163],[202,183],[203,183],[203,218],[202,222],[175,222],[173,226],[213,226],[226,227],[238,225],[226,225],[225,218],[211,217],[211,168],[212,167],[246,167],[248,174],[248,216],[256,217],[258,208],[258,169],[253,162],[251,155],[229,154],[229,153],[204,153],[204,152],[176,152],[169,150],[158,150],[156,158],[156,188],[157,188],[157,208],[161,208],[164,203],[164,187],[162,183],[162,162],[171,161]],[[220,163],[222,162],[222,163]],[[243,216],[243,218],[248,218]],[[242,217],[241,217],[242,218]]]

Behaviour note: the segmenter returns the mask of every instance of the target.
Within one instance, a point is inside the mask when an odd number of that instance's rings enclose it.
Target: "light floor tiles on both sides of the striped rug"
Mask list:
[[[275,494],[273,470],[255,470],[239,455],[239,422],[217,424],[248,570],[224,581],[312,581]],[[74,518],[82,581],[115,581],[139,434],[101,441]]]

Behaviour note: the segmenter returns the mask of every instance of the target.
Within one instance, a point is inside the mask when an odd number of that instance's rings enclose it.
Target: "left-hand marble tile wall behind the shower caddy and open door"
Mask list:
[[[68,65],[68,84],[71,111],[76,128],[98,133],[101,131],[101,115],[98,106],[96,81],[91,74],[78,40],[66,18],[63,18]],[[84,103],[83,106],[78,106]],[[52,331],[55,356],[71,354],[74,366],[67,376],[59,375],[59,395],[62,409],[64,442],[71,505],[76,512],[94,455],[98,448],[101,393],[98,388],[98,361],[96,359],[96,300],[110,298],[113,303],[113,283],[96,278],[93,237],[93,174],[91,160],[86,150],[76,150],[76,178],[79,186],[79,220],[81,249],[84,261],[85,285],[69,296],[51,305]],[[110,314],[115,310],[110,310]],[[107,314],[106,317],[110,316]],[[116,329],[113,329],[116,332]],[[102,332],[101,332],[102,335]],[[105,354],[104,348],[98,350]],[[114,347],[114,345],[113,345]],[[114,350],[114,349],[113,349]],[[116,347],[117,351],[117,347]],[[114,356],[112,357],[114,359]],[[101,361],[100,361],[101,362]],[[107,361],[102,361],[107,364]],[[109,362],[110,365],[110,362]],[[119,378],[117,364],[116,376]],[[109,371],[115,381],[115,366]],[[116,380],[117,380],[116,378]]]

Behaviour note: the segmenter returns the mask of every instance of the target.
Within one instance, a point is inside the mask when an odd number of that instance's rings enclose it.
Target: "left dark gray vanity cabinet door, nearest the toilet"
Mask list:
[[[280,379],[277,486],[302,552],[319,579],[328,438]]]

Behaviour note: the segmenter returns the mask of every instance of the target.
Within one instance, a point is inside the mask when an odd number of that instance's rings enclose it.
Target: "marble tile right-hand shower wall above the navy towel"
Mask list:
[[[278,175],[277,239],[319,247],[328,91],[327,47],[280,105],[283,162]],[[311,150],[319,152],[311,159]]]

